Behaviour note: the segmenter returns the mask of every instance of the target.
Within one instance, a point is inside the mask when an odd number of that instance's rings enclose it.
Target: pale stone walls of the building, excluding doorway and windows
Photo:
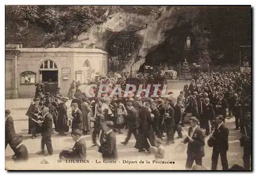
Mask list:
[[[35,95],[35,84],[21,84],[21,75],[23,72],[31,71],[35,73],[35,83],[40,82],[40,65],[46,61],[53,61],[58,70],[58,86],[60,93],[68,95],[69,88],[73,79],[76,79],[76,71],[82,71],[84,80],[87,73],[108,72],[108,53],[99,49],[82,48],[18,48],[16,83],[18,89],[18,98],[33,98]],[[13,73],[14,54],[6,55],[6,99],[12,98],[13,94]],[[88,60],[90,72],[84,67],[84,61]],[[103,65],[105,64],[105,65]],[[63,68],[69,68],[70,72],[62,72]],[[67,69],[66,69],[67,71]],[[65,76],[65,79],[63,79]],[[91,75],[91,77],[93,74]],[[68,77],[68,78],[67,78]],[[16,97],[17,98],[17,97]]]

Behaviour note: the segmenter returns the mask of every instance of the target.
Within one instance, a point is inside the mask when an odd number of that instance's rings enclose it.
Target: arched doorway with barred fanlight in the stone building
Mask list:
[[[55,93],[58,88],[58,68],[54,61],[48,59],[39,68],[39,82],[45,84],[45,91]]]

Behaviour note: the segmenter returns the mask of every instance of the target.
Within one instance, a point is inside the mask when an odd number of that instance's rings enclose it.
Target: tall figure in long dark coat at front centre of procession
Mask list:
[[[145,151],[146,149],[150,153],[150,144],[147,142],[147,139],[154,146],[153,118],[151,117],[150,105],[149,102],[146,102],[140,111],[139,139],[135,144],[135,148],[139,149],[139,152]]]

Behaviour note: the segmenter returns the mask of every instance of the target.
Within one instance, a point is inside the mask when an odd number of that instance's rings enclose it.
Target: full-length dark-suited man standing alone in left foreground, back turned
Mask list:
[[[37,121],[41,125],[41,129],[42,129],[42,133],[41,133],[42,151],[40,152],[40,154],[45,154],[45,145],[46,145],[48,154],[46,154],[45,156],[53,155],[53,148],[52,148],[53,118],[52,118],[52,115],[49,113],[49,111],[50,111],[49,107],[44,107],[42,109],[42,114],[44,114],[43,116],[44,121]]]

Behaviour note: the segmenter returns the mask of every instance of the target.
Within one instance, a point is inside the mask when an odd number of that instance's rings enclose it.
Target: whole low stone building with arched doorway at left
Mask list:
[[[6,99],[32,98],[35,84],[67,96],[73,79],[86,82],[97,72],[108,72],[108,53],[84,48],[22,48],[6,45]]]

